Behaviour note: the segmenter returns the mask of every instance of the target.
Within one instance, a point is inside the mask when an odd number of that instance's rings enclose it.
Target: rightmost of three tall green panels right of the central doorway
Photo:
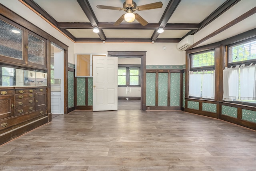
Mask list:
[[[180,73],[171,73],[170,106],[180,106]]]

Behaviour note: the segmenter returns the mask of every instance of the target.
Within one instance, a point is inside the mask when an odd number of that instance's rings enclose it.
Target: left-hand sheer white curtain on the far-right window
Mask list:
[[[238,71],[236,68],[225,68],[223,71],[223,100],[233,101],[238,99]]]

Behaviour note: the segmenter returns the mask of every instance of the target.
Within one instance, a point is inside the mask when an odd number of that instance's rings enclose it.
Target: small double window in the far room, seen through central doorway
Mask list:
[[[140,67],[119,66],[118,67],[118,86],[140,86]]]

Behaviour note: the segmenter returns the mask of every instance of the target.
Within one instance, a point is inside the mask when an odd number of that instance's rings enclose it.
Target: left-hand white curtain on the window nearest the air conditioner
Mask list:
[[[201,97],[202,74],[189,74],[188,95],[193,97]]]

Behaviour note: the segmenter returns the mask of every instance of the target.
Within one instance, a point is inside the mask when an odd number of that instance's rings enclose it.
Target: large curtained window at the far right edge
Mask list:
[[[228,67],[223,71],[223,100],[256,103],[256,39],[228,46]]]

